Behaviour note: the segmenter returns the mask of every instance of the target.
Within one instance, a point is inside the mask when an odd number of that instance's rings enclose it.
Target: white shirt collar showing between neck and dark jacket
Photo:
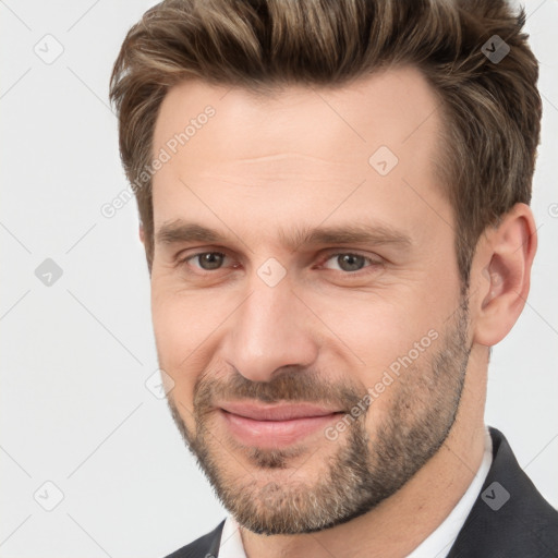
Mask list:
[[[450,514],[407,558],[445,558],[471,512],[493,462],[493,440],[485,427],[484,456],[481,466],[465,494]],[[225,521],[219,546],[219,558],[246,558],[239,524],[232,515]]]

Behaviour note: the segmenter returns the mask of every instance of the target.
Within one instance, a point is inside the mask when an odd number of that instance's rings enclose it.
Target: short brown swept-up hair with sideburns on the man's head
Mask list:
[[[524,23],[524,9],[514,13],[505,0],[167,0],[149,9],[128,33],[110,81],[149,271],[153,184],[144,169],[170,87],[198,77],[265,95],[292,83],[341,86],[411,64],[440,99],[447,141],[436,169],[468,286],[483,230],[531,201],[542,102]],[[504,59],[489,57],[508,47]]]

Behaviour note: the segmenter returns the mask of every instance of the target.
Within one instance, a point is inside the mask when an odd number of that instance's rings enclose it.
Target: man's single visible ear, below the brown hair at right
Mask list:
[[[525,204],[515,204],[483,233],[471,268],[471,292],[477,293],[474,342],[495,345],[515,324],[529,295],[536,245],[533,213]]]

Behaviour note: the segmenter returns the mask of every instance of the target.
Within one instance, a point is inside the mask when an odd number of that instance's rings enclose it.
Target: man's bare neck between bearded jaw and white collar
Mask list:
[[[446,441],[400,490],[369,512],[316,533],[267,536],[241,527],[246,557],[403,558],[416,548],[459,502],[483,459],[486,367],[475,366],[481,355],[471,356]]]

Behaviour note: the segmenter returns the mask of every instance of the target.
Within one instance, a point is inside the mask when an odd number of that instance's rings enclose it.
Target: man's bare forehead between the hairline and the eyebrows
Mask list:
[[[247,213],[262,216],[253,227],[269,226],[272,214],[280,230],[287,218],[310,226],[308,218],[343,210],[412,227],[439,202],[432,199],[439,197],[437,109],[413,68],[268,96],[202,81],[177,85],[154,133],[154,156],[168,154],[153,180],[155,230],[195,207],[221,229],[222,218],[247,227],[238,217]]]

